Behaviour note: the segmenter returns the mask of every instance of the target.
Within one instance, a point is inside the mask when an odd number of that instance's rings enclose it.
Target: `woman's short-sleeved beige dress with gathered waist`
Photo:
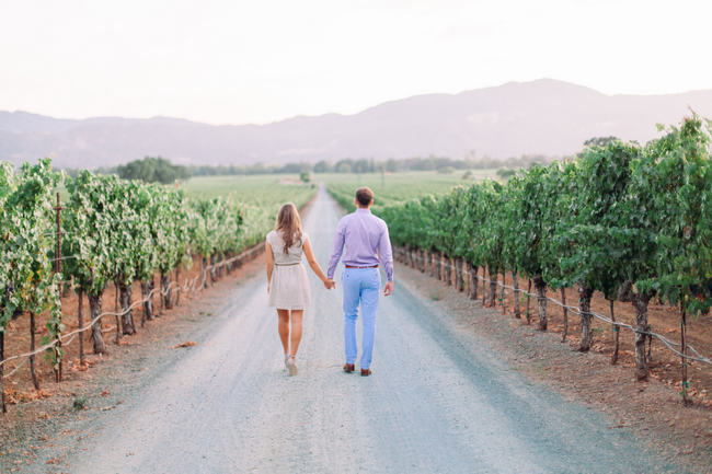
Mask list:
[[[301,234],[301,242],[297,241],[285,254],[285,242],[277,231],[267,234],[267,243],[272,246],[275,267],[272,271],[269,284],[269,305],[278,310],[306,310],[311,304],[309,277],[307,268],[301,263],[303,243],[309,236]]]

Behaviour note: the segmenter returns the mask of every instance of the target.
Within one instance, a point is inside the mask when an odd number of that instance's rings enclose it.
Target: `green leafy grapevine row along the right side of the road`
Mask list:
[[[345,206],[353,197],[334,193]],[[582,335],[592,347],[590,301],[631,302],[636,313],[636,377],[648,377],[645,342],[652,298],[686,321],[712,305],[712,165],[710,124],[698,116],[641,146],[611,140],[577,157],[533,166],[506,184],[485,181],[450,193],[375,206],[395,246],[436,255],[476,275],[533,282],[539,328],[547,330],[546,289],[575,286]],[[439,270],[438,270],[439,271]],[[687,359],[682,358],[682,391]],[[685,394],[684,394],[685,396]]]

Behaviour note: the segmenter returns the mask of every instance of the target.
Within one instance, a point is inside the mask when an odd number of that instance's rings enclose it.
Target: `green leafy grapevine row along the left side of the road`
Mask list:
[[[55,206],[55,193],[61,185],[67,197],[60,204],[57,194]],[[300,193],[295,196],[301,199],[296,204],[306,204],[312,194],[313,189]],[[193,255],[202,259],[200,286],[205,287],[226,267],[218,262],[233,262],[243,248],[262,241],[274,212],[230,198],[188,198],[174,186],[89,171],[69,178],[54,172],[48,159],[25,163],[19,172],[10,163],[0,163],[0,381],[11,319],[30,317],[30,370],[38,389],[35,317],[49,314],[41,344],[60,381],[62,290],[73,289],[80,303],[87,296],[93,351],[102,354],[102,296],[110,282],[117,289],[122,309],[117,337],[118,333],[135,334],[135,282],[141,287],[142,322],[151,320],[156,274],[160,275],[161,303],[170,308],[180,269],[192,265]],[[173,274],[176,284],[171,281]],[[78,317],[82,328],[81,311]],[[2,395],[4,413],[4,392]]]

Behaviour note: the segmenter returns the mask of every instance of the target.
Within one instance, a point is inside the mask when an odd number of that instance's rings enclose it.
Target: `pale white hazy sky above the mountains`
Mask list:
[[[0,0],[0,109],[211,124],[542,77],[712,89],[709,0]]]

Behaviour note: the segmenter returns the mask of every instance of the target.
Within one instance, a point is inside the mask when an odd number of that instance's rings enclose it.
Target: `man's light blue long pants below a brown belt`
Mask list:
[[[356,319],[361,308],[364,335],[361,338],[361,369],[371,366],[374,354],[374,333],[376,332],[376,310],[381,288],[381,274],[378,268],[344,268],[341,276],[344,286],[344,346],[346,362],[356,363]]]

